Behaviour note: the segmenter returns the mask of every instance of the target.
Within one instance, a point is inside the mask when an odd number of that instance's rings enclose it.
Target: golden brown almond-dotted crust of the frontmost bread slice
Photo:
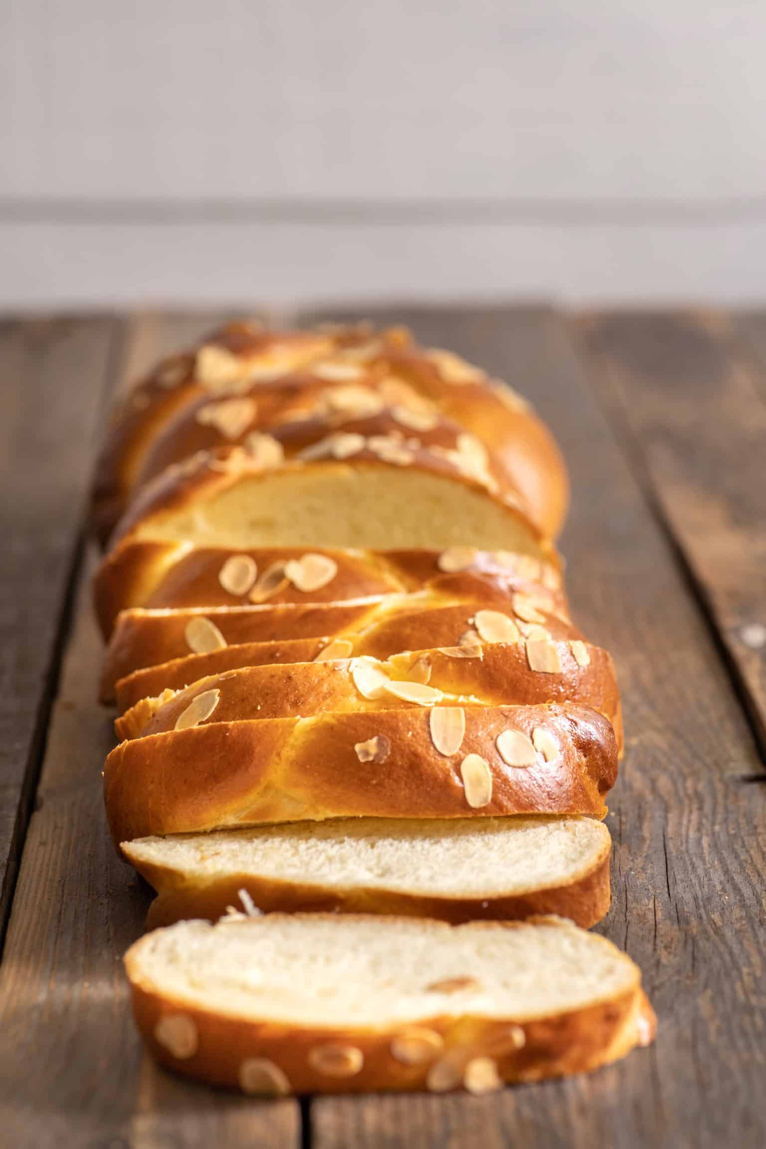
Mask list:
[[[489,928],[496,930],[497,925]],[[504,928],[514,928],[514,923]],[[503,1082],[540,1081],[606,1065],[637,1046],[648,1046],[656,1032],[637,967],[635,982],[625,993],[550,1017],[525,1020],[440,1015],[419,1018],[416,1026],[323,1028],[233,1018],[201,1009],[184,997],[162,994],[142,974],[140,946],[137,942],[125,955],[125,967],[136,1021],[150,1052],[172,1070],[217,1085],[241,1088],[241,1066],[250,1058],[268,1058],[278,1071],[281,1092],[297,1094],[433,1090],[440,1077],[443,1081],[454,1078],[450,1087],[459,1088],[471,1080],[469,1063],[482,1057],[492,1059]],[[156,1038],[163,1018],[179,1016],[187,1019],[196,1039],[193,1052],[184,1057],[173,1056]],[[393,1055],[392,1042],[413,1027],[438,1036],[432,1054],[416,1064],[405,1064]],[[358,1050],[356,1072],[345,1077],[319,1072],[311,1051],[324,1044]],[[436,1065],[454,1066],[455,1073],[434,1072]]]

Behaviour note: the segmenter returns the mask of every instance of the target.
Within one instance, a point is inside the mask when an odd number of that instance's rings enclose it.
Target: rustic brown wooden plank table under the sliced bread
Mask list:
[[[7,321],[3,1149],[766,1143],[766,315],[395,316],[516,385],[566,454],[570,593],[588,635],[616,657],[628,735],[601,930],[640,963],[657,1042],[588,1077],[485,1098],[258,1103],[170,1077],[142,1055],[121,957],[148,895],[105,832],[111,733],[95,703],[83,508],[115,380],[219,316]]]

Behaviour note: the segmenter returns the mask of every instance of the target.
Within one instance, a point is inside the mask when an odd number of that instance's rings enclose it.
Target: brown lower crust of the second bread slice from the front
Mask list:
[[[435,918],[452,925],[481,919],[523,920],[554,913],[586,930],[601,921],[611,901],[609,842],[604,843],[593,866],[562,886],[488,899],[436,897],[363,885],[331,888],[310,880],[280,881],[253,873],[219,874],[204,884],[188,882],[181,881],[173,871],[134,857],[130,846],[130,842],[123,846],[129,861],[157,890],[149,907],[147,930],[186,918],[216,921],[229,905],[240,904],[239,890],[242,888],[264,913],[387,913]]]

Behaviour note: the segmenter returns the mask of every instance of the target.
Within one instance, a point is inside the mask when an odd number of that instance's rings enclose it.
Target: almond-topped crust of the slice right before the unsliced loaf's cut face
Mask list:
[[[101,630],[108,637],[118,614],[136,607],[181,610],[252,606],[250,589],[237,594],[220,581],[220,572],[232,555],[247,555],[263,573],[277,563],[301,558],[308,550],[307,547],[260,547],[234,552],[150,539],[125,540],[105,556],[93,580],[93,601]],[[557,568],[531,555],[475,550],[469,556],[469,566],[446,571],[440,565],[444,562],[444,552],[439,550],[310,548],[310,553],[331,558],[336,568],[334,577],[311,592],[281,580],[269,595],[269,604],[342,602],[424,588],[434,594],[492,602],[520,592],[542,602],[549,614],[568,617]],[[273,637],[305,635],[276,633]],[[181,653],[175,651],[176,656]],[[138,665],[150,663],[134,664],[131,669]],[[122,677],[125,673],[122,665],[121,670]]]

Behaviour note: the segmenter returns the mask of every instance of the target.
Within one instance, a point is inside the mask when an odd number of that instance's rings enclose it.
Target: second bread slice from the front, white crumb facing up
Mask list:
[[[588,927],[609,909],[610,846],[594,818],[345,818],[142,838],[123,853],[157,890],[149,927],[215,921],[242,897],[264,911],[558,913]]]

